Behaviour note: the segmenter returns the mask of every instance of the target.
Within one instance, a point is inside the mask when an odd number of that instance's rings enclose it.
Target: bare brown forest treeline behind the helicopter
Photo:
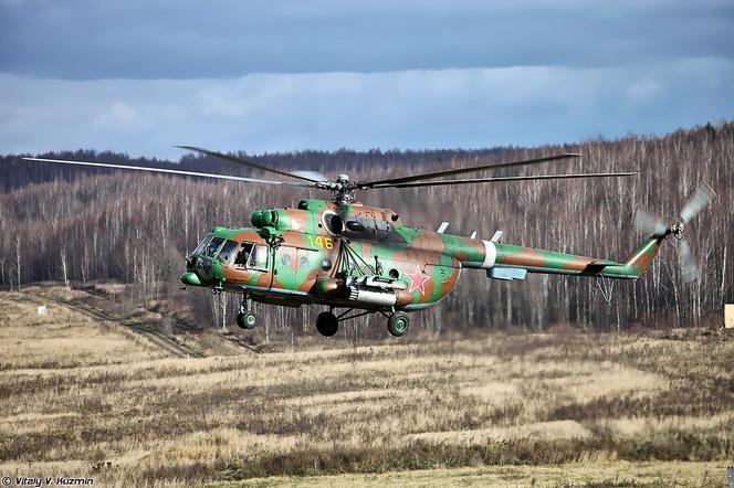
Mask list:
[[[663,245],[660,258],[643,279],[615,284],[611,305],[604,301],[590,278],[529,275],[525,282],[501,283],[481,272],[465,270],[453,294],[438,307],[417,315],[413,327],[442,330],[513,325],[542,329],[570,322],[609,329],[716,320],[723,304],[734,301],[734,200],[728,191],[734,184],[734,123],[678,130],[664,137],[629,136],[533,149],[304,151],[253,159],[285,169],[377,179],[559,151],[578,151],[584,157],[580,161],[546,163],[532,168],[532,172],[639,168],[641,174],[374,190],[361,193],[360,200],[395,210],[412,226],[436,229],[445,220],[451,223],[448,232],[455,234],[478,231],[489,238],[495,230],[503,230],[505,242],[622,259],[644,237],[633,229],[637,209],[672,223],[696,183],[706,181],[719,198],[685,232],[702,269],[701,279],[683,282],[672,240]],[[178,162],[94,151],[42,156],[262,177],[234,163],[193,156]],[[17,156],[2,158],[0,183],[1,286],[117,279],[133,285],[138,301],[166,299],[181,307],[193,304],[196,318],[212,325],[232,322],[238,299],[212,298],[206,290],[181,291],[178,277],[187,252],[214,224],[248,225],[255,209],[292,206],[304,197],[328,197],[228,181],[29,163]],[[310,333],[319,311],[264,306],[260,310],[271,325],[270,336]],[[370,333],[385,333],[381,317],[370,321],[379,325]],[[356,333],[364,323],[348,322],[345,333]]]

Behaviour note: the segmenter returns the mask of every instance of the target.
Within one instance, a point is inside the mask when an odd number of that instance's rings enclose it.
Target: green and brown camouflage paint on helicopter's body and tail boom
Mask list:
[[[334,215],[338,219],[334,220]],[[617,263],[421,231],[405,225],[387,209],[316,199],[303,200],[296,209],[254,212],[252,224],[243,229],[214,227],[211,234],[269,246],[265,268],[238,268],[214,257],[209,259],[210,270],[203,273],[197,263],[206,264],[208,259],[192,255],[181,280],[187,285],[248,291],[254,299],[279,305],[380,308],[350,303],[345,287],[347,278],[373,276],[394,284],[396,309],[416,310],[434,305],[451,293],[463,268],[636,279],[644,273],[664,238],[651,236],[623,263]]]

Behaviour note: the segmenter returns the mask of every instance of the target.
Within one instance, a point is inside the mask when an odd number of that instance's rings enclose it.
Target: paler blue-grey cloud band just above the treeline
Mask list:
[[[664,132],[734,113],[734,62],[515,66],[226,79],[60,81],[0,75],[0,152],[88,147],[178,157],[175,144],[251,152],[489,147]]]

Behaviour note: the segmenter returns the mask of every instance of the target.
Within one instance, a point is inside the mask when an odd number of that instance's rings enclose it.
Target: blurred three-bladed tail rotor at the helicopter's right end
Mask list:
[[[672,234],[678,238],[678,261],[681,266],[681,275],[683,282],[691,283],[701,276],[701,270],[693,259],[691,245],[683,238],[683,230],[694,216],[702,210],[707,208],[713,202],[716,193],[706,183],[699,183],[691,198],[685,202],[680,212],[681,221],[668,225],[664,221],[656,215],[652,215],[643,210],[638,210],[635,216],[635,227],[657,236],[667,236]]]

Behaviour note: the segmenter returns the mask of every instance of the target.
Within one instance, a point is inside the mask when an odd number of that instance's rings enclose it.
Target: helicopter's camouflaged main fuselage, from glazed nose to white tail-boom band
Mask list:
[[[440,301],[462,267],[481,266],[485,255],[481,241],[411,229],[359,203],[304,200],[255,212],[252,223],[214,227],[189,256],[184,282],[280,305],[411,310]],[[461,250],[447,252],[452,245]]]

